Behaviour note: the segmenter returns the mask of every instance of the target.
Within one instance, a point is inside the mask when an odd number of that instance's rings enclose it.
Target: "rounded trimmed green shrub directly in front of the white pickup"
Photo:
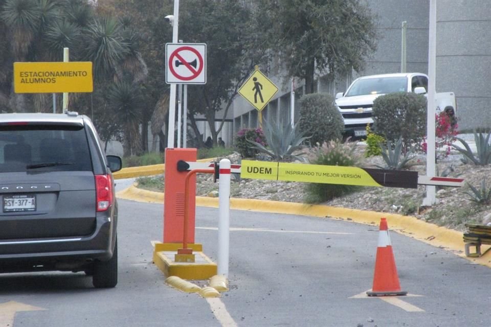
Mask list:
[[[407,92],[380,96],[373,101],[373,130],[388,141],[403,141],[403,153],[421,144],[426,135],[426,98]]]

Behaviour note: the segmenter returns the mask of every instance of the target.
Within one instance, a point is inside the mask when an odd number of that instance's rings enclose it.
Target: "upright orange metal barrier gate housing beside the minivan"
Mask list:
[[[196,175],[190,177],[188,194],[191,196],[185,201],[185,180],[188,172],[177,171],[177,162],[196,161],[196,153],[196,149],[165,149],[164,243],[183,244],[185,205],[188,215],[186,242],[194,243]]]

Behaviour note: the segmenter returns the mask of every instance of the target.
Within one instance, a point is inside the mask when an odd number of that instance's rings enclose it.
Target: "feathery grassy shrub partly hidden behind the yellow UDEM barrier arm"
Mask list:
[[[341,143],[330,141],[322,146],[312,148],[309,152],[310,164],[326,166],[351,166],[360,165],[360,155],[356,154],[356,143]],[[305,186],[304,201],[306,203],[321,203],[335,197],[349,194],[358,190],[360,186],[308,183]]]

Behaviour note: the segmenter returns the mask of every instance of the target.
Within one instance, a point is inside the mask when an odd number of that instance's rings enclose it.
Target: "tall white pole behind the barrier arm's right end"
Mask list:
[[[435,93],[436,93],[436,0],[430,0],[430,26],[428,42],[428,116],[426,154],[426,175],[435,176]],[[423,205],[436,203],[436,186],[426,186],[426,198]]]

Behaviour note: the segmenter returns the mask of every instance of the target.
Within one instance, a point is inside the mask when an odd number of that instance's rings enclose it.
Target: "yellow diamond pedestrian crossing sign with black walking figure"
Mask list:
[[[270,81],[259,69],[245,81],[238,90],[239,94],[261,111],[278,92],[278,87]]]

